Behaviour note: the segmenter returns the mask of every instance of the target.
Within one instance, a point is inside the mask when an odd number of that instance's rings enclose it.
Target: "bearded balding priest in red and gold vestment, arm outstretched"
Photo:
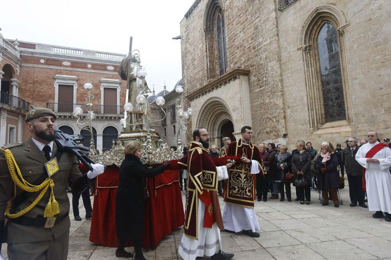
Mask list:
[[[178,161],[188,172],[184,234],[178,249],[184,260],[204,255],[221,260],[234,257],[221,250],[220,229],[224,226],[217,198],[217,181],[228,178],[227,168],[232,164],[216,167],[208,154],[208,146],[208,131],[195,129],[189,153]]]

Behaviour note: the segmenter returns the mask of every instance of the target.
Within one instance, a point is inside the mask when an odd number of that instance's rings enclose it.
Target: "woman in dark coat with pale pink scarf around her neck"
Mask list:
[[[331,193],[331,199],[334,207],[339,207],[337,189],[338,182],[338,158],[334,153],[334,148],[329,142],[322,142],[321,155],[315,161],[315,169],[318,171],[318,187],[322,190],[323,206],[328,205],[328,189]]]

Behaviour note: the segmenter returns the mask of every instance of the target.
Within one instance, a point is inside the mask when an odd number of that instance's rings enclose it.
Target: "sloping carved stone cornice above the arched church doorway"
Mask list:
[[[235,79],[239,78],[240,76],[248,76],[249,73],[250,73],[250,71],[247,69],[234,69],[233,71],[230,71],[230,72],[224,74],[223,76],[221,76],[217,80],[213,80],[212,82],[209,82],[208,84],[195,90],[194,92],[189,93],[186,96],[186,98],[190,101],[193,101],[193,100],[205,95],[206,93],[209,93],[209,92],[213,91],[214,89],[219,88],[222,85],[227,84],[231,80],[235,80]]]

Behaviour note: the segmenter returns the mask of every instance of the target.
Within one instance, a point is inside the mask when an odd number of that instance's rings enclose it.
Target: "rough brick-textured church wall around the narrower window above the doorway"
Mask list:
[[[281,138],[285,133],[276,13],[273,1],[222,0],[226,26],[227,72],[250,70],[250,102],[254,138]],[[180,23],[182,76],[187,91],[207,80],[204,13],[208,0]],[[230,90],[226,90],[229,92]],[[214,95],[212,93],[212,95]],[[264,113],[260,113],[264,111]],[[234,110],[233,113],[241,113]],[[234,115],[233,115],[234,116]],[[235,117],[235,116],[234,116]],[[242,125],[234,125],[240,129]]]

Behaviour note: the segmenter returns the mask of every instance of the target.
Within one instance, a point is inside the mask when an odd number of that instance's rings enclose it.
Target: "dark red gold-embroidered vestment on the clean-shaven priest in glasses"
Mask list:
[[[238,142],[231,142],[227,148],[227,155],[257,160],[261,167],[261,173],[264,172],[260,151],[251,141],[247,145],[243,144],[241,139]],[[250,174],[250,165],[250,163],[239,160],[228,169],[228,181],[225,184],[223,194],[226,203],[254,208],[255,176]]]

